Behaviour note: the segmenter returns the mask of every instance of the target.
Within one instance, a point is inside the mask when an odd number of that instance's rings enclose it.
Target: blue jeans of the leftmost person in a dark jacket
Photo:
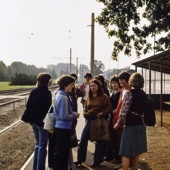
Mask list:
[[[33,123],[31,126],[36,139],[34,148],[33,170],[45,170],[48,131],[44,130],[43,127],[40,127],[35,123]]]

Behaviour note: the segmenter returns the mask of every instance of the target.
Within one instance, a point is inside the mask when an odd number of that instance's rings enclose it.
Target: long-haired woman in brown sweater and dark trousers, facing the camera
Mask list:
[[[81,166],[82,162],[86,161],[86,153],[88,140],[90,140],[90,125],[91,121],[97,117],[107,119],[108,114],[112,112],[111,102],[106,94],[103,93],[98,80],[92,79],[89,84],[89,93],[84,105],[83,115],[86,118],[86,123],[82,131],[80,143],[78,145],[77,161],[74,164]],[[109,133],[109,132],[108,132]],[[99,166],[103,162],[103,141],[95,142],[95,153],[91,167]]]

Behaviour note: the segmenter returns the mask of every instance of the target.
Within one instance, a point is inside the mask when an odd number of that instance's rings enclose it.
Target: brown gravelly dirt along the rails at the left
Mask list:
[[[0,108],[0,130],[16,122],[24,110],[24,102]],[[0,170],[19,170],[33,152],[34,136],[31,126],[20,123],[0,135]]]

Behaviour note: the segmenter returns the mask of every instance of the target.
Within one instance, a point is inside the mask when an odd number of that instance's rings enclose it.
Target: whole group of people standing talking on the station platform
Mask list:
[[[53,132],[43,129],[44,118],[52,104],[48,90],[51,76],[40,73],[37,87],[31,91],[26,108],[33,115],[30,122],[36,139],[33,170],[45,170],[46,147],[49,143],[49,167],[53,170],[71,170],[73,164],[82,166],[86,161],[90,125],[98,117],[109,122],[110,141],[95,141],[95,151],[91,167],[100,166],[103,161],[122,163],[122,170],[138,169],[139,155],[147,152],[146,94],[142,90],[144,78],[139,73],[130,75],[122,72],[110,78],[108,85],[103,75],[94,78],[87,72],[85,81],[75,87],[76,74],[64,75],[57,80],[57,90],[53,102],[55,127]],[[79,143],[72,144],[71,134],[76,131],[77,98],[81,97],[85,126]],[[52,135],[51,135],[52,134]],[[52,139],[50,139],[52,137]],[[49,140],[50,139],[50,140]],[[52,146],[50,146],[52,145]],[[78,146],[77,160],[73,162],[72,148]]]

